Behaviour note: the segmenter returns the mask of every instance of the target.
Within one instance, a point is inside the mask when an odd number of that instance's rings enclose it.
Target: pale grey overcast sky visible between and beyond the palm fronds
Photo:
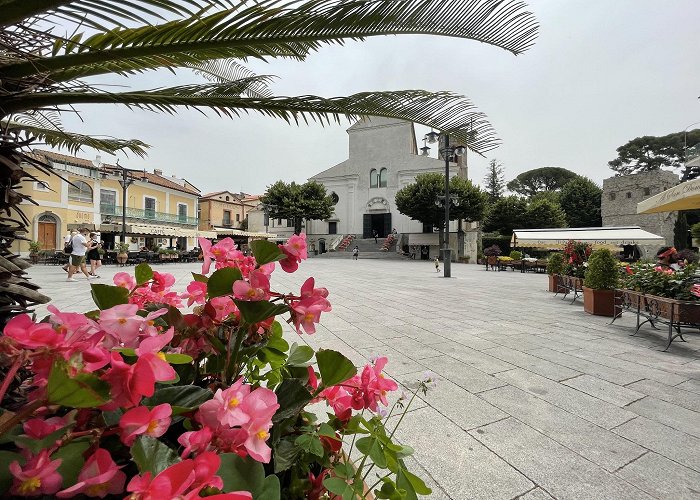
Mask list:
[[[683,131],[700,121],[700,1],[528,4],[540,35],[517,57],[469,40],[401,36],[323,48],[303,63],[249,66],[279,76],[272,85],[278,95],[425,89],[469,97],[502,140],[484,158],[469,154],[469,176],[478,183],[491,158],[503,163],[506,180],[561,166],[600,183],[613,173],[607,162],[615,149],[628,140]],[[194,79],[150,73],[109,82],[155,88]],[[194,111],[171,116],[105,105],[80,109],[84,122],[65,116],[66,128],[141,139],[152,146],[148,158],[132,156],[121,165],[160,168],[202,192],[262,193],[278,179],[303,182],[347,158],[349,123],[297,127],[257,115],[231,120]],[[418,137],[426,131],[417,127]],[[114,158],[103,154],[103,160]]]

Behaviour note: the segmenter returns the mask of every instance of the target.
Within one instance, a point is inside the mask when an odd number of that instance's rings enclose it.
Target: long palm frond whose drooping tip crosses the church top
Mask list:
[[[288,123],[329,124],[346,116],[384,116],[421,123],[448,132],[472,151],[483,154],[498,145],[486,117],[467,98],[450,92],[404,90],[362,92],[348,97],[317,96],[251,98],[241,96],[240,85],[185,85],[122,93],[35,93],[18,100],[29,109],[87,103],[123,104],[174,114],[179,108],[211,109],[221,116],[258,112]]]

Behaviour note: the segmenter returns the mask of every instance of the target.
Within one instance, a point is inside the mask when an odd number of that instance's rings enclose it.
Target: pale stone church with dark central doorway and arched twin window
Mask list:
[[[326,187],[335,201],[335,210],[328,220],[307,222],[309,244],[320,251],[335,250],[345,235],[371,238],[376,232],[384,238],[396,229],[400,249],[416,253],[417,258],[438,256],[436,230],[399,213],[395,197],[418,174],[444,173],[444,160],[418,153],[411,122],[373,117],[358,121],[347,133],[348,159],[311,177]],[[451,163],[450,175],[466,177],[466,167]],[[456,221],[450,224],[453,255],[459,240],[460,255],[470,255],[476,261],[477,231],[468,227],[458,236],[457,226]]]

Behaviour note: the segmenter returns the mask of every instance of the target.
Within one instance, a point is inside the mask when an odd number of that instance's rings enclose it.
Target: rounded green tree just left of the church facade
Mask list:
[[[294,222],[294,233],[301,232],[304,219],[328,219],[333,214],[333,200],[323,184],[309,181],[305,184],[277,181],[267,188],[260,201],[273,219]]]

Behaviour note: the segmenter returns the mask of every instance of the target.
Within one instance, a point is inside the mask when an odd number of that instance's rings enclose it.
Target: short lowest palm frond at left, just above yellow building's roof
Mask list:
[[[36,113],[35,113],[36,115]],[[114,137],[96,137],[75,132],[67,132],[46,123],[45,118],[38,119],[31,114],[16,115],[12,121],[0,120],[0,127],[8,133],[23,133],[32,138],[32,142],[41,141],[51,147],[67,149],[75,154],[83,147],[89,147],[116,153],[117,151],[131,152],[144,158],[149,145],[138,139],[117,139]]]

